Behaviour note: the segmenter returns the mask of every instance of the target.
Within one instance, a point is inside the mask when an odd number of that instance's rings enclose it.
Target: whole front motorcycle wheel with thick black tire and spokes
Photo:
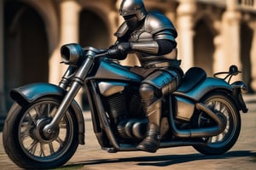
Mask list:
[[[12,105],[3,127],[3,147],[16,165],[49,169],[60,167],[73,156],[79,145],[79,127],[71,108],[55,127],[55,133],[43,135],[44,125],[60,104],[61,99],[44,97],[32,104]]]

